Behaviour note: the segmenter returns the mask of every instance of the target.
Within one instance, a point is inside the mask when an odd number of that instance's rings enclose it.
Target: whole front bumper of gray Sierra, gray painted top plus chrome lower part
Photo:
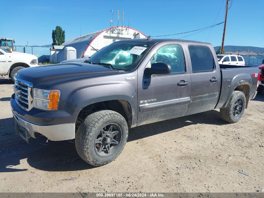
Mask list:
[[[80,109],[65,111],[43,111],[32,108],[22,110],[12,95],[11,110],[16,134],[28,141],[36,138],[35,133],[44,135],[49,140],[71,140],[75,138],[75,122]]]

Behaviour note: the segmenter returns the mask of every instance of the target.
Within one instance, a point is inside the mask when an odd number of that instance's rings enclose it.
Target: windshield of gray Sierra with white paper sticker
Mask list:
[[[98,51],[89,58],[89,61],[92,64],[130,72],[136,68],[137,63],[152,45],[140,42],[115,42]]]

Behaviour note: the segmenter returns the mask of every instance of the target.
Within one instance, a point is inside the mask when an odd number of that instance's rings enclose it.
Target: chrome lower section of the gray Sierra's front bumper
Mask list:
[[[30,137],[36,138],[35,133],[44,135],[49,140],[72,140],[75,138],[75,123],[41,125],[29,122],[13,111],[14,128],[17,135],[28,141]]]

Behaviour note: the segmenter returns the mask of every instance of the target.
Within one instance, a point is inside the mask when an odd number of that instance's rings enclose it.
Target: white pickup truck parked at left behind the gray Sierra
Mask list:
[[[38,66],[37,56],[28,53],[8,52],[0,47],[0,76],[8,75],[8,78],[15,81],[14,75],[19,69],[35,66]]]

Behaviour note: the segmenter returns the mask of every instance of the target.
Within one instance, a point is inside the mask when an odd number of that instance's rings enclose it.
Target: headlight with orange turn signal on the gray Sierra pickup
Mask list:
[[[57,110],[60,90],[35,89],[33,93],[34,107],[39,109]]]

